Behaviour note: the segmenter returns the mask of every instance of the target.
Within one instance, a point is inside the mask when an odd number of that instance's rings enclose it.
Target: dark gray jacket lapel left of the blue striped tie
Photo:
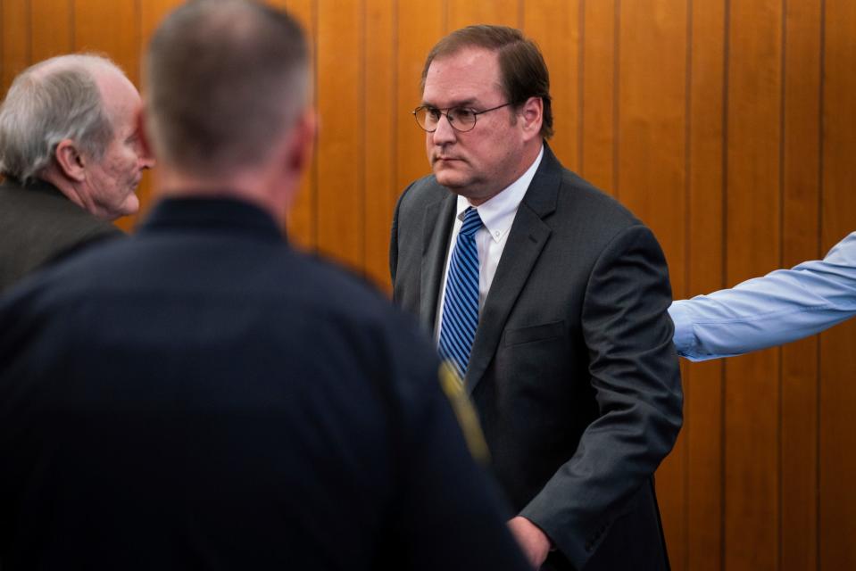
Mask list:
[[[449,251],[457,197],[448,193],[443,200],[425,209],[422,242],[422,271],[420,272],[420,322],[427,331],[436,326],[436,306],[439,302],[440,283]]]

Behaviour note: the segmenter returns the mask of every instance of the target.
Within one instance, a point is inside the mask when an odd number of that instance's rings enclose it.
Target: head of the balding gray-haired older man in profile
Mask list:
[[[0,108],[0,172],[46,180],[102,219],[139,208],[151,161],[137,130],[137,88],[110,60],[61,55],[24,70]]]

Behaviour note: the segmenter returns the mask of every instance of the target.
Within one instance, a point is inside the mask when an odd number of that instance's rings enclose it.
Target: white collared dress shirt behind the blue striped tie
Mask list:
[[[541,158],[544,157],[544,146],[541,147],[541,152],[538,153],[535,161],[529,166],[528,170],[523,175],[506,186],[503,190],[496,194],[493,198],[478,206],[478,216],[481,218],[484,226],[476,232],[474,239],[476,240],[476,248],[478,250],[478,311],[481,312],[485,307],[487,292],[490,291],[490,285],[494,282],[496,267],[499,266],[499,260],[503,257],[505,249],[505,241],[508,238],[508,233],[511,230],[511,224],[514,222],[514,217],[517,215],[517,209],[520,202],[523,201],[523,196],[529,188],[529,183],[532,178],[535,178],[535,172],[538,170],[538,165],[541,164]],[[461,231],[463,224],[464,211],[470,208],[470,201],[463,196],[458,196],[457,214],[454,219],[454,227],[452,228],[452,236],[449,242],[449,252],[446,254],[445,265],[443,268],[443,283],[440,287],[440,299],[437,304],[436,317],[436,338],[440,338],[440,327],[443,320],[443,303],[445,302],[445,280],[449,271],[449,261],[452,260],[452,252],[454,244],[458,240],[458,232]]]

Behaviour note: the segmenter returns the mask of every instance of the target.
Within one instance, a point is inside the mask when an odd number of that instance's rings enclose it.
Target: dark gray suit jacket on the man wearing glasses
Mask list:
[[[395,209],[395,300],[436,322],[455,195]],[[548,147],[481,310],[465,383],[494,472],[553,540],[544,568],[668,568],[652,476],[681,426],[668,270],[629,211]]]

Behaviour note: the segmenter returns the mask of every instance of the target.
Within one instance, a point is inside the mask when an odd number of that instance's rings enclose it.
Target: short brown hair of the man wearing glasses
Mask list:
[[[553,137],[553,107],[547,64],[544,63],[544,56],[535,42],[524,36],[519,29],[480,24],[456,29],[443,37],[431,48],[425,60],[421,90],[425,90],[425,79],[428,77],[431,62],[457,54],[468,47],[484,48],[498,55],[503,91],[509,103],[521,105],[526,103],[529,97],[541,98],[544,103],[541,137]]]

